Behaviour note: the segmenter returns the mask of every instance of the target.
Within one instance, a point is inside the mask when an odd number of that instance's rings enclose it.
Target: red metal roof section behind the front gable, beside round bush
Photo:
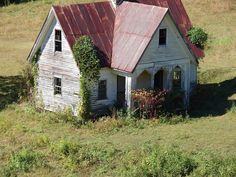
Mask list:
[[[175,24],[195,57],[204,57],[204,52],[193,45],[187,37],[188,30],[192,27],[192,24],[181,0],[137,0],[137,2],[168,8]]]

